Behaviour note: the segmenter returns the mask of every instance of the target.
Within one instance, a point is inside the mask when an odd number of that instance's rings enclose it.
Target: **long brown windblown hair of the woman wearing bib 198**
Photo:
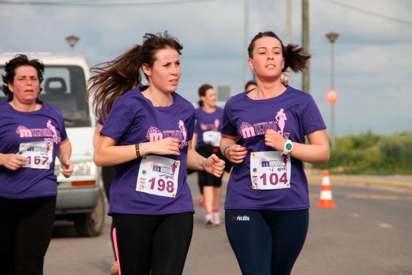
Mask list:
[[[141,85],[141,66],[153,66],[156,60],[154,55],[164,48],[172,48],[181,55],[183,46],[167,30],[164,33],[146,33],[142,45],[135,45],[114,60],[90,69],[96,75],[89,79],[86,98],[93,98],[93,111],[99,114],[102,121],[105,121],[114,100]]]

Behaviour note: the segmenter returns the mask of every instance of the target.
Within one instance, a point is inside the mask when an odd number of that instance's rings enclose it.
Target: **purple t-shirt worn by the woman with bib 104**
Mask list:
[[[309,192],[302,161],[291,157],[290,188],[258,190],[251,183],[251,153],[276,151],[265,145],[267,129],[291,141],[305,143],[305,135],[325,128],[312,96],[289,86],[280,96],[265,100],[252,100],[247,92],[231,97],[224,107],[222,134],[239,136],[236,143],[249,153],[242,163],[233,165],[225,208],[308,209]]]

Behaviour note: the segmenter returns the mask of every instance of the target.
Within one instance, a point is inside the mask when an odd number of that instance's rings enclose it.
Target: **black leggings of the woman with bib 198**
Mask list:
[[[113,218],[122,275],[182,274],[192,239],[193,213],[116,214]]]

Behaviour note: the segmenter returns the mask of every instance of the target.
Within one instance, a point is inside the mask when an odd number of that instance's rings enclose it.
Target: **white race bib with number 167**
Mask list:
[[[27,159],[23,168],[49,169],[53,161],[53,142],[36,141],[20,143],[17,154]]]

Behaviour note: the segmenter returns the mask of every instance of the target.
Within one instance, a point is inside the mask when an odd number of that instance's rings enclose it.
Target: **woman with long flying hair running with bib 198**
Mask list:
[[[109,215],[120,274],[181,274],[193,229],[186,167],[220,177],[224,161],[192,149],[195,108],[175,91],[183,47],[147,33],[136,45],[94,68],[88,97],[108,112],[94,152],[115,166]],[[141,86],[140,71],[149,82]]]

